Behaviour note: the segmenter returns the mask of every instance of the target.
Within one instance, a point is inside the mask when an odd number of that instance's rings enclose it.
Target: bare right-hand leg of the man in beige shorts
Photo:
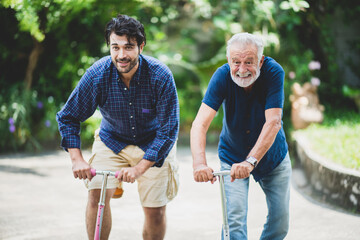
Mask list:
[[[145,222],[144,240],[162,240],[166,231],[166,205],[162,207],[143,207]]]

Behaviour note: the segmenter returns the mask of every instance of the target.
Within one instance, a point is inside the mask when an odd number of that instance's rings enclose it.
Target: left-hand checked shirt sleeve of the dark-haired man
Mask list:
[[[64,107],[56,114],[61,135],[61,147],[80,148],[80,122],[91,117],[98,106],[98,89],[94,73],[86,71]]]

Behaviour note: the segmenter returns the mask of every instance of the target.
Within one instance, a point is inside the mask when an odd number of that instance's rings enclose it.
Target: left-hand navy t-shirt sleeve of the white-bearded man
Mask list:
[[[225,99],[227,74],[229,74],[229,71],[224,66],[215,71],[210,79],[204,99],[202,100],[203,103],[215,111],[219,110]]]

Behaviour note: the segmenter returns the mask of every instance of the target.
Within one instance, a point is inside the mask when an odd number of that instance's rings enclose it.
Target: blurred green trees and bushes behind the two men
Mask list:
[[[187,135],[206,86],[226,63],[237,32],[261,35],[265,55],[284,68],[284,126],[290,88],[318,86],[326,111],[360,109],[360,5],[344,0],[2,0],[0,5],[0,152],[59,146],[55,114],[82,74],[108,55],[103,33],[117,13],[140,20],[144,54],[174,73]],[[358,102],[358,105],[356,105]],[[221,130],[222,111],[211,125]],[[85,146],[99,122],[82,124]]]

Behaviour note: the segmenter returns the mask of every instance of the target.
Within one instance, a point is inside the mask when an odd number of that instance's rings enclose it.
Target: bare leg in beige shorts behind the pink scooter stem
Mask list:
[[[86,206],[86,230],[89,240],[94,239],[95,225],[97,212],[99,207],[100,189],[94,189],[89,191],[88,204]],[[111,230],[111,211],[110,211],[110,199],[114,194],[115,189],[108,189],[105,197],[105,207],[103,212],[103,220],[101,227],[101,238],[108,239]]]

